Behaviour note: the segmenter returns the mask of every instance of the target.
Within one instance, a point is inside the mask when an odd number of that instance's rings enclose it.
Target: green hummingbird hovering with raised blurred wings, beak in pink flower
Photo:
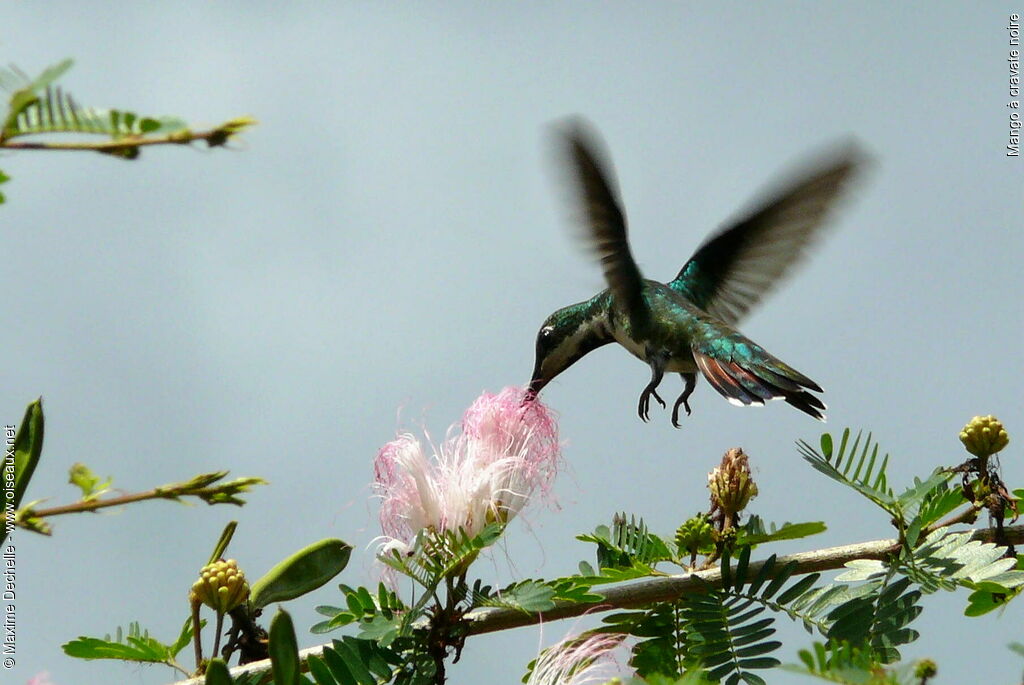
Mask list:
[[[637,405],[645,422],[651,397],[666,406],[657,394],[666,372],[678,373],[684,388],[672,408],[672,425],[679,428],[679,408],[690,414],[698,371],[733,404],[784,399],[824,421],[825,404],[812,394],[821,387],[735,326],[821,237],[831,210],[866,166],[858,145],[837,144],[806,162],[753,210],[706,240],[668,284],[644,279],[633,259],[614,173],[597,135],[571,120],[559,128],[556,146],[583,234],[608,288],[544,322],[527,399],[588,352],[617,342],[650,366],[650,383]]]

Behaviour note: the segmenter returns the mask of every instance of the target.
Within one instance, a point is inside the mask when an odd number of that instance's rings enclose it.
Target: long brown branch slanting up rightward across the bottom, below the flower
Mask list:
[[[971,540],[985,543],[995,542],[996,531],[990,528],[974,530]],[[1024,544],[1024,525],[1004,528],[1000,543],[1010,545]],[[776,568],[783,568],[790,562],[795,562],[797,568],[794,575],[814,573],[816,571],[842,568],[849,561],[858,559],[885,559],[900,550],[899,541],[874,540],[867,543],[829,547],[813,552],[800,552],[775,560]],[[764,561],[752,563],[749,573],[756,575]],[[635,583],[624,584],[609,589],[602,589],[604,601],[599,604],[580,604],[575,602],[559,602],[555,608],[543,613],[525,613],[520,609],[481,608],[470,611],[464,617],[468,635],[494,633],[510,628],[521,628],[540,623],[571,618],[584,613],[594,613],[597,610],[610,610],[644,606],[654,602],[671,602],[683,595],[695,592],[706,592],[708,585],[719,586],[722,583],[721,568],[710,568],[695,573],[666,575],[646,579]],[[299,657],[304,663],[309,656],[323,656],[324,647],[318,645],[299,651]],[[232,676],[269,673],[270,661],[253,661],[231,670]],[[203,678],[180,681],[176,685],[203,685]]]

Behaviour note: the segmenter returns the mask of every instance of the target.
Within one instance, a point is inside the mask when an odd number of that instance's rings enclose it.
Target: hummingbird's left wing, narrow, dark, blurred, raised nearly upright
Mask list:
[[[583,120],[570,120],[559,132],[584,239],[600,259],[615,302],[625,309],[634,328],[642,328],[648,318],[642,296],[643,276],[626,238],[626,215],[618,201],[614,170],[605,161],[597,134]]]

